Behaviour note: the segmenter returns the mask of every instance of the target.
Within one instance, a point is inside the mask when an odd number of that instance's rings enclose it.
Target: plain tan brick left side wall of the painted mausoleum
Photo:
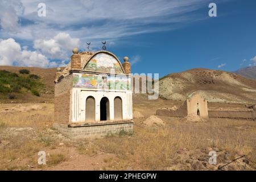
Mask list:
[[[69,122],[73,77],[69,75],[55,84],[55,122]]]

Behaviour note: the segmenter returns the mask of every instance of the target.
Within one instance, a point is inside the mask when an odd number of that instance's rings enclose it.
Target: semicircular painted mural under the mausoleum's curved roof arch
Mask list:
[[[85,66],[85,71],[110,73],[114,69],[115,73],[123,73],[121,65],[113,57],[106,53],[99,53]]]

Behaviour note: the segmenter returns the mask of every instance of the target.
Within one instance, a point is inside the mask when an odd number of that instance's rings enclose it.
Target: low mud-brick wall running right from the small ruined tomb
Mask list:
[[[256,114],[251,110],[208,110],[210,118],[241,118],[241,119],[255,119]]]

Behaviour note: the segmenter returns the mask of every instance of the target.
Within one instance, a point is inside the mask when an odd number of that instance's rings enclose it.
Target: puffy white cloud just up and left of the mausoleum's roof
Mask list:
[[[71,38],[65,32],[60,32],[52,39],[36,39],[34,40],[34,48],[50,59],[68,59],[68,55],[72,53],[74,47],[79,47],[79,39]]]

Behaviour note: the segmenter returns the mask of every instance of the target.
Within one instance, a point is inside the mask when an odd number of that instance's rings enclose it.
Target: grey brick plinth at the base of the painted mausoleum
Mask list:
[[[98,138],[111,133],[119,133],[121,130],[132,132],[133,121],[94,123],[91,125],[68,125],[55,122],[53,127],[69,138]]]

